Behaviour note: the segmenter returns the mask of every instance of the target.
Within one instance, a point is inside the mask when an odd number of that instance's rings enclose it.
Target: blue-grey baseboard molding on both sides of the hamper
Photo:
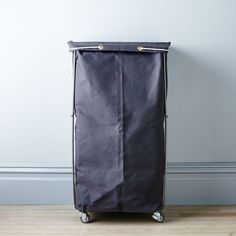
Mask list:
[[[0,163],[0,204],[72,204],[70,166]],[[168,163],[166,204],[236,204],[236,162]]]

